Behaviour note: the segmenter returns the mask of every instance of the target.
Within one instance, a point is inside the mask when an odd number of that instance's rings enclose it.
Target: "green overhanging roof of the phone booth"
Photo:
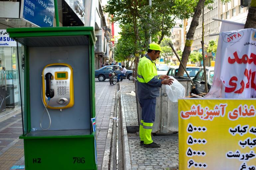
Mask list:
[[[95,44],[93,27],[8,28],[7,32],[11,38],[31,47]]]

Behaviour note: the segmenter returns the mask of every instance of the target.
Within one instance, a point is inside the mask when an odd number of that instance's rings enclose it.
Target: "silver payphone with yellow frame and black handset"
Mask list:
[[[42,98],[47,108],[66,109],[74,105],[73,69],[69,64],[46,65],[42,78]]]

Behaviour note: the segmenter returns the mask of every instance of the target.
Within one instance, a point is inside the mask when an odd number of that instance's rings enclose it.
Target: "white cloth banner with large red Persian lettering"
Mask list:
[[[256,98],[256,29],[219,35],[214,77],[206,98]]]

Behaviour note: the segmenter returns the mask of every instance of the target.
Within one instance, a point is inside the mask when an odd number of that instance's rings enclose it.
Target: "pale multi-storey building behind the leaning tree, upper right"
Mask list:
[[[247,17],[248,8],[240,6],[240,0],[231,0],[229,3],[222,4],[220,1],[215,0],[212,4],[212,9],[204,8],[204,51],[205,51],[205,63],[206,66],[210,66],[210,61],[214,60],[212,53],[207,53],[209,41],[216,41],[218,36],[211,36],[219,33],[221,22],[212,20],[222,19],[232,22],[245,23]],[[191,23],[192,19],[189,19]],[[186,31],[189,30],[190,24],[186,27]],[[202,15],[199,17],[199,25],[194,33],[194,41],[192,44],[192,51],[202,51]]]

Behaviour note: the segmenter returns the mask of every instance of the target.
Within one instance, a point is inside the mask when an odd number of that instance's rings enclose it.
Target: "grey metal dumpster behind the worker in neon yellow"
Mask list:
[[[191,92],[191,79],[182,76],[174,76],[186,89],[186,96]],[[141,107],[137,96],[137,80],[135,83],[135,93],[137,101],[138,125],[141,120]],[[178,102],[171,102],[166,93],[166,85],[162,85],[160,96],[157,97],[156,118],[152,132],[169,133],[178,132]]]

